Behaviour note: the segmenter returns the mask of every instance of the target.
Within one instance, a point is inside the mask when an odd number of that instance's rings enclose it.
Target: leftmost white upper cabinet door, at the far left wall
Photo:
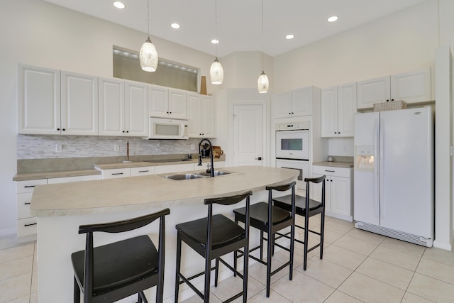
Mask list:
[[[60,71],[18,69],[18,133],[60,134]]]

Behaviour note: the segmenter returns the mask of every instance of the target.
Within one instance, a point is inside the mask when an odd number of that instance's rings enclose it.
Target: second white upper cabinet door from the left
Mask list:
[[[62,72],[62,134],[98,135],[98,78]]]

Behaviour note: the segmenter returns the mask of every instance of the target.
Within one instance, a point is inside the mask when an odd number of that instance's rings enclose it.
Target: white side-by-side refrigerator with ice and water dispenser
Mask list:
[[[431,106],[355,115],[355,227],[431,247]]]

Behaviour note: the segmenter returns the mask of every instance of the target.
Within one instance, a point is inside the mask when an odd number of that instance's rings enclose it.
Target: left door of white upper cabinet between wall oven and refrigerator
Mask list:
[[[338,136],[338,87],[321,90],[321,136]]]

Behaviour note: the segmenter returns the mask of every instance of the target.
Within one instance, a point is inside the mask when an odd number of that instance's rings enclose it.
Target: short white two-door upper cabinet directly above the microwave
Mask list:
[[[186,92],[150,85],[148,114],[155,117],[187,119]]]

